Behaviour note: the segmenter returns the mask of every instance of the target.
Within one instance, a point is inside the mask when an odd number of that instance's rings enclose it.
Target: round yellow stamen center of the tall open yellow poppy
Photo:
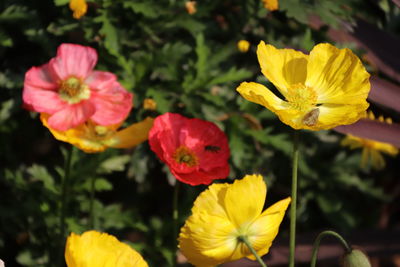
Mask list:
[[[317,93],[304,84],[294,84],[288,88],[286,100],[293,109],[306,111],[317,103]]]

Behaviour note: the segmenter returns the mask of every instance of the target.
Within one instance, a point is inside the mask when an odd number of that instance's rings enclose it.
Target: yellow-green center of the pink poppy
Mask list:
[[[90,97],[89,86],[76,77],[69,77],[61,81],[58,93],[61,99],[69,104],[79,103],[81,100]]]

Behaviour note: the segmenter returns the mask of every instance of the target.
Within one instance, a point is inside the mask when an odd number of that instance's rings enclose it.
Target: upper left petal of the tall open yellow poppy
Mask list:
[[[293,49],[276,49],[260,42],[257,48],[261,72],[286,96],[290,85],[304,84],[307,76],[307,55]]]

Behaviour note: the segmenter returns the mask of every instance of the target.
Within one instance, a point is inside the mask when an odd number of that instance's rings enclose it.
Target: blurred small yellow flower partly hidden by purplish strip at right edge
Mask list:
[[[375,116],[372,112],[368,112],[367,118],[374,120]],[[383,116],[379,116],[377,120],[387,124],[392,124],[392,119],[384,119]],[[372,168],[376,170],[381,170],[386,166],[382,153],[392,157],[395,157],[399,153],[399,149],[391,144],[360,138],[353,135],[346,135],[342,140],[341,145],[348,146],[350,149],[362,149],[361,167],[366,168],[371,164]]]

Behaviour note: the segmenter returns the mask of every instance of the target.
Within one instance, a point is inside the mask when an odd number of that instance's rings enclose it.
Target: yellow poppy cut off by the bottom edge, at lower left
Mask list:
[[[142,256],[114,236],[96,231],[71,233],[65,247],[68,267],[147,267]]]

